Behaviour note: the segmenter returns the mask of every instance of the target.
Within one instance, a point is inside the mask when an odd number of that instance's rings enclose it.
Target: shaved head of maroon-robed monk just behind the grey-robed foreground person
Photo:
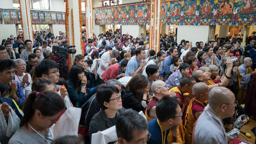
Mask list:
[[[202,82],[196,83],[192,88],[193,95],[196,97],[196,99],[199,99],[200,94],[204,94],[208,90],[208,85]]]

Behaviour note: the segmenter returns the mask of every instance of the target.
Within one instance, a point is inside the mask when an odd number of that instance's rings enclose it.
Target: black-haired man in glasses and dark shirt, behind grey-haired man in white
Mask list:
[[[31,53],[28,55],[28,60],[25,60],[25,63],[26,63],[26,73],[32,75],[34,70],[35,70],[35,67],[37,66],[38,64],[38,58],[37,58],[37,55],[34,54],[34,53]]]

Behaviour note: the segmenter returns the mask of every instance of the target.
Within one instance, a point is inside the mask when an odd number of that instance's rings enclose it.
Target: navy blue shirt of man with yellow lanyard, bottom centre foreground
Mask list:
[[[162,136],[161,128],[157,123],[157,118],[149,121],[147,124],[148,124],[148,132],[151,133],[150,140],[147,141],[147,144],[162,144],[162,139],[165,138],[164,136],[165,132],[163,132],[163,136]],[[166,131],[165,144],[168,144],[167,136],[169,134],[169,131],[170,129]]]

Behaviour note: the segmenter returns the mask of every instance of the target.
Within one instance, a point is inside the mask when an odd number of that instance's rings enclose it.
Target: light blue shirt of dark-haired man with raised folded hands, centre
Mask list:
[[[141,61],[137,61],[136,56],[133,56],[127,64],[125,76],[130,76],[130,73],[134,73],[140,67],[140,63],[142,61],[143,59]]]

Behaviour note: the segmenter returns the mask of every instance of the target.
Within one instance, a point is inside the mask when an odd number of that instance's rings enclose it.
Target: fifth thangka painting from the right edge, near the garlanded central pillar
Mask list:
[[[181,19],[181,1],[171,1],[168,11],[170,15],[167,15],[167,19],[180,20]]]

